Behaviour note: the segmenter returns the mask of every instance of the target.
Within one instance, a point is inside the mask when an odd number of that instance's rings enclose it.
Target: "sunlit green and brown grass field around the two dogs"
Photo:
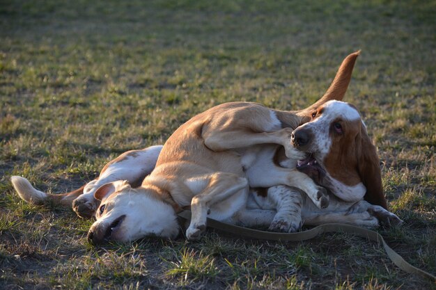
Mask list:
[[[380,229],[436,273],[436,1],[0,1],[0,289],[436,289],[377,243],[146,239],[94,248],[90,220],[26,204],[222,102],[302,108],[362,49],[346,95],[378,147]]]

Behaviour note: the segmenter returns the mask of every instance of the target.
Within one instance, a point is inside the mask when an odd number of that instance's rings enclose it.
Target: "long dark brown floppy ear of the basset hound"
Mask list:
[[[377,149],[371,142],[364,124],[361,124],[361,140],[357,142],[357,162],[361,181],[366,187],[364,199],[374,205],[380,205],[387,209],[386,198],[383,194],[382,171]],[[359,136],[357,138],[359,138]]]

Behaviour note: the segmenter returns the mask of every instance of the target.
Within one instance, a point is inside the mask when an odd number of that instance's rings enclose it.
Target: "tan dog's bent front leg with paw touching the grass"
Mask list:
[[[218,217],[220,220],[233,216],[247,204],[247,179],[227,172],[215,172],[203,178],[206,179],[208,185],[191,201],[192,217],[186,231],[186,237],[189,240],[200,238],[201,232],[206,228],[208,211],[214,204],[217,206],[212,211],[216,212],[211,216]]]

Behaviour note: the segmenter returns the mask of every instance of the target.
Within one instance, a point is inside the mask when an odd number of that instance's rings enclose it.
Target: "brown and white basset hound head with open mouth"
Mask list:
[[[311,118],[291,137],[297,149],[310,154],[297,169],[342,200],[365,198],[387,208],[377,150],[355,106],[329,101],[313,110]]]

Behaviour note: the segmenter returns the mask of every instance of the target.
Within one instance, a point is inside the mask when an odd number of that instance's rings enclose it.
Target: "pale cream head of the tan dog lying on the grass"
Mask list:
[[[176,213],[152,188],[132,188],[128,182],[104,184],[94,197],[101,200],[97,220],[88,232],[88,241],[133,241],[144,236],[176,238],[179,232]]]

